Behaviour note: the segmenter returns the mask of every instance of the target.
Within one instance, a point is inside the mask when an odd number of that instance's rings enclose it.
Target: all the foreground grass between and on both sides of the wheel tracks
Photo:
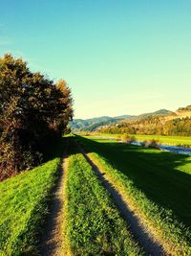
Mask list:
[[[63,138],[49,161],[0,183],[0,255],[37,255],[69,141],[65,255],[144,255],[75,140],[170,255],[191,254],[191,157],[97,137]]]

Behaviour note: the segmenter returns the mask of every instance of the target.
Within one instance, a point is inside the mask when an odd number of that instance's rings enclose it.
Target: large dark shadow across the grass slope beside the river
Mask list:
[[[119,172],[133,180],[147,198],[171,209],[191,227],[191,175],[180,171],[185,164],[191,172],[191,157],[115,142],[97,142],[78,137],[87,152],[103,156]]]

